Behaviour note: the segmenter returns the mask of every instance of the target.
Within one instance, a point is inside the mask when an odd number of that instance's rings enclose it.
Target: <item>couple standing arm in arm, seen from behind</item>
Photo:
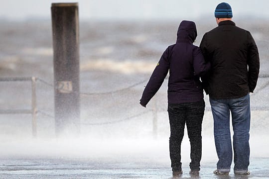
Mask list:
[[[204,34],[200,48],[193,45],[197,36],[195,23],[186,20],[180,23],[176,43],[164,51],[140,99],[145,107],[169,71],[169,150],[174,177],[182,174],[180,148],[185,123],[191,146],[190,175],[199,175],[205,109],[203,89],[209,94],[214,118],[219,159],[214,174],[229,175],[233,152],[234,174],[250,174],[249,93],[254,91],[259,76],[259,52],[251,33],[232,21],[232,8],[228,3],[217,5],[215,17],[218,27]]]

